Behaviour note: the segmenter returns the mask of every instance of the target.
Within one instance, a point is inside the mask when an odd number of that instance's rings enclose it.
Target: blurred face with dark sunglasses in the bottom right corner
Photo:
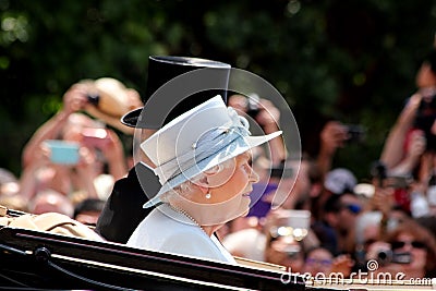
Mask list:
[[[427,250],[425,243],[420,241],[420,238],[414,238],[410,233],[402,232],[392,242],[393,252],[410,253],[412,262],[404,265],[405,268],[419,270],[424,269],[427,257]]]

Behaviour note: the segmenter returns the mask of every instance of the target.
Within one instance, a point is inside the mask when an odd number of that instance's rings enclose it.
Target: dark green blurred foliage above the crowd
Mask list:
[[[365,143],[335,159],[362,178],[415,89],[436,2],[0,0],[0,167],[16,174],[24,144],[73,83],[112,76],[144,94],[148,56],[179,54],[269,81],[307,148],[320,117],[363,124]]]

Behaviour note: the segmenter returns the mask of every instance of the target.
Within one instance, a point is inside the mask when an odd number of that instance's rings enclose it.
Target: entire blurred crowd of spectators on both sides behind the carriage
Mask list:
[[[142,106],[137,92],[116,80],[108,78],[105,85],[99,82],[78,82],[64,94],[62,109],[24,147],[21,177],[0,171],[1,205],[33,214],[58,211],[95,226],[113,182],[132,167],[119,137],[125,129],[114,125],[114,120]],[[303,148],[301,161],[286,158],[280,138],[271,145],[272,155],[256,151],[253,168],[261,178],[261,186],[253,191],[257,191],[256,201],[246,217],[217,233],[222,244],[234,256],[312,276],[340,272],[347,278],[376,262],[379,267],[375,271],[434,277],[436,52],[423,62],[416,85],[416,93],[389,131],[371,182],[360,183],[350,169],[331,168],[336,153],[351,138],[348,126],[339,120],[324,124],[316,133],[316,155]],[[109,92],[117,94],[110,96],[105,86],[112,86]],[[119,111],[98,110],[96,96],[110,99],[109,108],[116,102]],[[229,105],[241,114],[249,113],[243,96],[233,96]],[[276,131],[280,112],[266,99],[261,98],[259,105],[262,110],[254,119],[266,133]],[[76,159],[55,160],[57,149],[48,143],[53,140],[71,146]],[[265,159],[275,169],[265,167]],[[267,174],[277,169],[280,184],[278,177]],[[281,203],[274,205],[277,197]],[[294,210],[310,214],[300,235],[290,222],[296,219]],[[282,228],[288,231],[282,232]]]

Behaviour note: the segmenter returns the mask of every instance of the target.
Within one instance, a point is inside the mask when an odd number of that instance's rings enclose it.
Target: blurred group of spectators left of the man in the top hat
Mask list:
[[[141,106],[140,94],[116,78],[73,84],[60,110],[23,147],[21,175],[2,169],[0,204],[95,226],[114,181],[131,167],[121,137],[133,132],[119,120]]]

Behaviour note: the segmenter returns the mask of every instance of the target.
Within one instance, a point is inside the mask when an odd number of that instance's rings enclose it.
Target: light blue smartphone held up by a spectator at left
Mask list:
[[[50,150],[50,161],[59,165],[76,165],[80,159],[80,144],[60,140],[44,142]]]

